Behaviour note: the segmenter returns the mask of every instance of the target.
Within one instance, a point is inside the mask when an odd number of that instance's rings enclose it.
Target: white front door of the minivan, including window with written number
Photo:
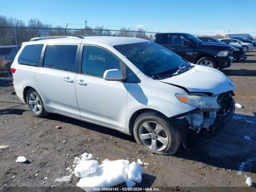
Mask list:
[[[108,50],[83,46],[81,72],[76,76],[76,97],[81,118],[124,130],[128,83],[104,80],[109,69],[122,70],[123,63]]]

